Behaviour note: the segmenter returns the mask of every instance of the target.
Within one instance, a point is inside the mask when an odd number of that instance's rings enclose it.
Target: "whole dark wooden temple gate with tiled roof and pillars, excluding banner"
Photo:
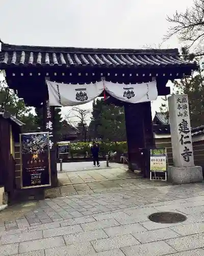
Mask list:
[[[44,131],[50,135],[52,186],[57,186],[54,106],[49,105],[45,80],[84,84],[103,77],[113,83],[135,84],[156,79],[159,96],[170,94],[168,80],[190,75],[195,63],[184,61],[177,49],[88,49],[18,46],[2,42],[0,70],[18,97],[30,106],[42,107]],[[119,84],[117,85],[119,86]],[[103,95],[101,95],[103,96]],[[155,147],[150,101],[127,103],[110,97],[107,101],[124,105],[129,167],[141,167],[148,176],[148,157],[141,161],[141,151]],[[147,152],[147,151],[146,151]]]

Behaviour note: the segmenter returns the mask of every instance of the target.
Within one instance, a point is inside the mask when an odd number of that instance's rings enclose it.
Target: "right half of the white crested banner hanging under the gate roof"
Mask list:
[[[105,90],[112,97],[130,103],[156,100],[158,97],[157,82],[124,84],[105,81]]]

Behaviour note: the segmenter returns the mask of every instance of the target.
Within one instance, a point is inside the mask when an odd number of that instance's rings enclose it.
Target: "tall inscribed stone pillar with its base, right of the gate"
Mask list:
[[[168,104],[173,154],[168,179],[176,184],[202,181],[202,169],[194,165],[188,95],[170,96]]]

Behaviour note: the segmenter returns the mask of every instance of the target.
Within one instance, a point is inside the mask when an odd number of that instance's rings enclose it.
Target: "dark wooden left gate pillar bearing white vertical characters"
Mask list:
[[[43,104],[43,131],[49,132],[50,147],[50,168],[51,168],[51,186],[58,186],[57,178],[57,147],[55,140],[55,107],[49,105],[49,100]]]

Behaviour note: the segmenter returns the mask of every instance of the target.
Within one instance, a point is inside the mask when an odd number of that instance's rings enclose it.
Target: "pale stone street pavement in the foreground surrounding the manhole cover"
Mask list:
[[[0,255],[204,255],[204,184],[168,185],[135,179],[118,189],[40,201],[7,221]],[[151,222],[158,211],[182,212],[183,223]]]

